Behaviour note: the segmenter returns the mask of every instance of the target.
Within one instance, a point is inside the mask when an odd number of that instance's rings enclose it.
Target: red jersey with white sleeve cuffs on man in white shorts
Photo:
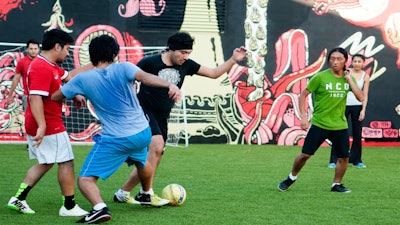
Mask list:
[[[40,95],[43,99],[44,118],[46,120],[46,134],[57,134],[65,131],[62,120],[62,104],[51,100],[51,95],[60,89],[62,80],[68,76],[68,72],[57,64],[47,61],[38,55],[31,63],[28,70],[28,97]],[[26,133],[35,136],[38,125],[32,115],[30,102],[25,113]]]

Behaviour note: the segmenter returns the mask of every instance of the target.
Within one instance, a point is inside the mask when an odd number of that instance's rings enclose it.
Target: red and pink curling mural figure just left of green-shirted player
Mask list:
[[[235,65],[229,78],[235,87],[235,101],[243,124],[247,143],[265,144],[275,139],[278,145],[302,144],[305,131],[300,128],[297,99],[306,87],[307,79],[320,71],[326,57],[323,50],[318,59],[308,63],[308,41],[302,30],[283,33],[275,44],[277,68],[274,83],[264,75],[264,96],[249,101],[256,88],[249,86],[248,68]],[[291,71],[288,68],[291,67]]]

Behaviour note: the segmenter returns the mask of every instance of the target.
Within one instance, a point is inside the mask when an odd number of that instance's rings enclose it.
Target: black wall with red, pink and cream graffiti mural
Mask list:
[[[5,100],[28,39],[59,28],[74,37],[66,69],[89,62],[85,46],[109,34],[121,45],[118,61],[137,63],[166,45],[169,35],[195,38],[191,58],[215,67],[235,47],[246,62],[217,80],[185,79],[190,143],[301,145],[298,94],[327,68],[327,51],[362,53],[371,76],[363,127],[368,141],[399,142],[400,2],[395,0],[24,0],[0,3],[0,142],[24,141],[22,86]],[[124,48],[126,47],[126,48]],[[350,61],[349,61],[350,63]],[[310,99],[309,114],[313,103]],[[64,119],[71,140],[91,141],[101,131],[90,102],[69,102]]]

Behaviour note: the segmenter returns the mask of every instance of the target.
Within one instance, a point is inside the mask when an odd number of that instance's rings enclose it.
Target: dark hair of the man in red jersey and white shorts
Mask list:
[[[72,44],[74,39],[65,31],[59,29],[53,29],[43,34],[42,50],[50,50],[54,48],[56,44],[59,44],[64,48],[67,44]]]

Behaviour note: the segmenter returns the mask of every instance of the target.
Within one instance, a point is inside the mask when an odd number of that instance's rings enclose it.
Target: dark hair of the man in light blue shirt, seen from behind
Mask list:
[[[106,34],[94,38],[89,44],[90,61],[94,66],[97,66],[99,62],[114,62],[118,52],[117,41]]]

